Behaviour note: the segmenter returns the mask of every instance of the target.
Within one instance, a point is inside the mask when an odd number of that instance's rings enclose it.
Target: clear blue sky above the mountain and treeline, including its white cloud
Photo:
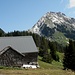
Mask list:
[[[75,18],[75,0],[0,0],[0,28],[28,30],[49,11]]]

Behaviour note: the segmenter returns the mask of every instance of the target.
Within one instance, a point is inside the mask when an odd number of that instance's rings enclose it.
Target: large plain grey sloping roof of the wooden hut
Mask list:
[[[20,53],[38,52],[32,36],[0,37],[0,51],[8,46]]]

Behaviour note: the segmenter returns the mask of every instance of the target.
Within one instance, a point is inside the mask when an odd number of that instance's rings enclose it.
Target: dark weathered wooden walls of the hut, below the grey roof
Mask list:
[[[0,66],[20,67],[23,64],[37,62],[37,56],[38,53],[24,53],[24,55],[22,55],[12,48],[9,48],[0,55]]]

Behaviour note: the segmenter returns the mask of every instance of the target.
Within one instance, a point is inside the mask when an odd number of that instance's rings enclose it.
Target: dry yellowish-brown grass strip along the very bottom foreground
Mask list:
[[[61,69],[33,69],[33,70],[3,70],[0,69],[0,75],[75,75],[72,71]]]

